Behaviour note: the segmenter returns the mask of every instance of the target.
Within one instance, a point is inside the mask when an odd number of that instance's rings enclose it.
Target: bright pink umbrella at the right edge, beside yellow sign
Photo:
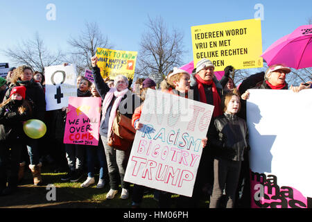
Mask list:
[[[300,26],[274,42],[261,56],[268,65],[295,69],[312,67],[312,25]]]

